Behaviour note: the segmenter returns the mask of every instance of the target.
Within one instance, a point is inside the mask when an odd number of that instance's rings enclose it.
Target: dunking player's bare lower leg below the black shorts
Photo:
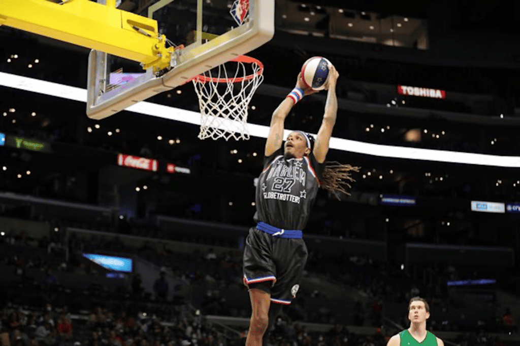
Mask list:
[[[269,306],[271,305],[271,294],[262,289],[251,288],[251,321],[249,333],[245,346],[262,346],[262,338],[269,326]]]

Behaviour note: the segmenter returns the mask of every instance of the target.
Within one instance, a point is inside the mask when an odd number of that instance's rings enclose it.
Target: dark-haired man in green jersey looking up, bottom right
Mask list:
[[[386,346],[444,346],[443,340],[426,330],[428,318],[430,318],[430,306],[426,300],[413,297],[408,304],[410,328],[394,335],[388,340]]]

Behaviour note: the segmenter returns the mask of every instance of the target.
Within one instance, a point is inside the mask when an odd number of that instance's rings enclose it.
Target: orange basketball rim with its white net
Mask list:
[[[263,72],[259,60],[238,56],[192,79],[199,96],[201,140],[249,140],[249,102],[264,80]]]

